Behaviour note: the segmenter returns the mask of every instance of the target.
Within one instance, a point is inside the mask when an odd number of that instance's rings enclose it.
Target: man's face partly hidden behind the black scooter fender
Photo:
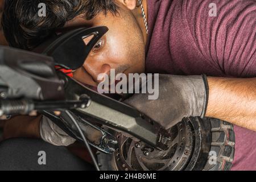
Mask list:
[[[68,22],[65,27],[106,26],[109,31],[92,49],[84,65],[74,71],[74,78],[84,84],[97,86],[101,73],[142,73],[144,72],[145,49],[141,28],[129,9],[119,5],[119,14],[97,15],[92,20],[82,16]],[[90,38],[84,39],[89,42]]]

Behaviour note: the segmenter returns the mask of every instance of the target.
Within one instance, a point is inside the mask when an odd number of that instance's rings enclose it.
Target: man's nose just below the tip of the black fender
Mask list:
[[[104,79],[104,77],[99,77],[99,75],[109,75],[111,69],[109,64],[96,65],[85,63],[83,67],[85,71],[88,72],[89,75],[93,78],[94,82],[98,83],[100,83]]]

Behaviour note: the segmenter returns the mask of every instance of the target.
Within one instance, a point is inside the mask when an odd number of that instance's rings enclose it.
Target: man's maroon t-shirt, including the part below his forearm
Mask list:
[[[256,77],[255,0],[147,2],[147,72]],[[217,16],[209,15],[210,3],[216,4]],[[256,132],[237,126],[234,130],[232,169],[256,170]]]

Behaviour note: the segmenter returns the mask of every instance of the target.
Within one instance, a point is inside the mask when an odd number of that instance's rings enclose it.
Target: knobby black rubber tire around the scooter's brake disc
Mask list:
[[[180,169],[189,171],[230,170],[235,146],[233,125],[214,118],[192,117],[183,119],[183,122],[193,127],[191,135],[193,136],[193,144],[191,144],[193,150],[189,154],[187,164],[183,164]],[[102,171],[120,170],[115,164],[114,155],[97,152],[98,163]]]

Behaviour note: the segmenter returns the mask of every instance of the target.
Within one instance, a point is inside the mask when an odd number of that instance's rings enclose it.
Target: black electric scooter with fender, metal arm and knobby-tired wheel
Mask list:
[[[190,117],[165,130],[122,99],[68,76],[107,31],[78,28],[33,52],[0,47],[0,115],[45,115],[85,143],[98,170],[229,170],[235,144],[230,123]],[[88,36],[93,38],[85,44]]]

